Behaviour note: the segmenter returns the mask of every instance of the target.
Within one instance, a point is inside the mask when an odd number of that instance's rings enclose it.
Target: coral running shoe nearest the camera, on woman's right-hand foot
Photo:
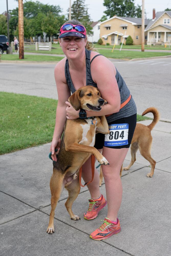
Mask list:
[[[121,226],[119,219],[117,219],[117,223],[114,224],[110,219],[105,218],[100,228],[91,233],[90,238],[94,240],[107,239],[112,235],[119,233],[120,231]]]

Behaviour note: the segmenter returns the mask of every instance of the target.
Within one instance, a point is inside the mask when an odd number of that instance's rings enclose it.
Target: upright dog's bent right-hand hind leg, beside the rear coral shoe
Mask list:
[[[78,194],[80,193],[79,175],[76,179],[72,180],[71,184],[68,186],[66,185],[65,188],[68,190],[68,199],[65,203],[65,206],[71,217],[71,220],[80,220],[80,217],[73,214],[71,209],[74,200],[76,200]]]

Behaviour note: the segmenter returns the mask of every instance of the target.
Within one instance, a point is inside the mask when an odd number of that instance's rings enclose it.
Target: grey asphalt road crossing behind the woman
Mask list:
[[[161,119],[171,121],[171,58],[112,60],[137,105],[137,113],[155,106]],[[57,99],[55,64],[0,63],[0,91]],[[152,116],[149,114],[149,116]]]

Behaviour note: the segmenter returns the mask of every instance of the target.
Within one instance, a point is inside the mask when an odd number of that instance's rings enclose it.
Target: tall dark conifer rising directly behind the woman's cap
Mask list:
[[[87,34],[92,33],[92,27],[90,26],[92,21],[88,14],[88,8],[85,5],[85,0],[75,0],[73,2],[71,6],[71,20],[72,19],[79,20],[85,26]]]

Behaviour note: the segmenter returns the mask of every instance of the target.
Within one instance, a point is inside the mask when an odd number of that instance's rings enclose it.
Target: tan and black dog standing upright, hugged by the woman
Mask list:
[[[106,103],[100,97],[100,92],[93,86],[83,86],[74,92],[68,99],[74,109],[100,111]],[[94,123],[94,124],[93,124]],[[79,169],[90,157],[94,155],[100,164],[109,164],[105,157],[94,148],[96,133],[109,133],[109,126],[105,116],[90,119],[67,120],[60,145],[57,162],[53,162],[53,174],[50,180],[51,212],[47,233],[54,233],[54,215],[57,202],[65,187],[68,190],[68,199],[65,203],[71,219],[79,220],[73,214],[72,204],[80,192]]]

